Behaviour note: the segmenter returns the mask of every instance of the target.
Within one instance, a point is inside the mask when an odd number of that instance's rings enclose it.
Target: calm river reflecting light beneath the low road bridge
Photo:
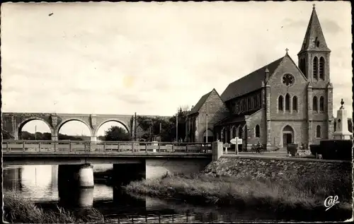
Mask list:
[[[108,168],[106,165],[94,165],[96,171]],[[178,199],[165,200],[148,196],[137,198],[122,194],[115,187],[98,183],[95,183],[92,189],[78,189],[76,196],[64,199],[59,198],[57,165],[8,166],[3,169],[4,191],[16,190],[18,194],[44,209],[56,208],[57,204],[69,211],[93,207],[98,209],[105,218],[117,219],[120,223],[297,221],[324,218],[264,213],[256,210],[242,211],[215,205],[196,206]],[[147,167],[147,172],[150,172],[147,176],[153,176],[156,170],[149,170]],[[6,204],[6,201],[4,203]]]

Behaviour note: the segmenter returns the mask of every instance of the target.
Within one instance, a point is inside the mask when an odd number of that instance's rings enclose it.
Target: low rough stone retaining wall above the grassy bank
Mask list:
[[[351,178],[352,164],[348,161],[300,160],[291,158],[219,158],[205,167],[203,173],[213,176],[276,177],[281,175],[346,174]]]

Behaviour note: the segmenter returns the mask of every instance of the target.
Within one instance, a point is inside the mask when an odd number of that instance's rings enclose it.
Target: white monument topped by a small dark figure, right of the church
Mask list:
[[[336,131],[333,133],[333,139],[348,139],[352,134],[348,130],[348,114],[343,107],[343,99],[341,101],[341,108],[337,111]]]

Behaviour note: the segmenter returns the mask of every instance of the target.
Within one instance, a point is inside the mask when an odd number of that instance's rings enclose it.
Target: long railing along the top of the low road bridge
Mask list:
[[[139,141],[6,140],[3,151],[211,153],[210,143]]]

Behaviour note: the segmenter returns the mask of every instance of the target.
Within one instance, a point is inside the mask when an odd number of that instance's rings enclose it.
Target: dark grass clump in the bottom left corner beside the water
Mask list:
[[[16,191],[4,192],[4,220],[8,223],[104,223],[102,214],[89,208],[80,214],[64,211],[44,211],[29,199],[16,194]]]

